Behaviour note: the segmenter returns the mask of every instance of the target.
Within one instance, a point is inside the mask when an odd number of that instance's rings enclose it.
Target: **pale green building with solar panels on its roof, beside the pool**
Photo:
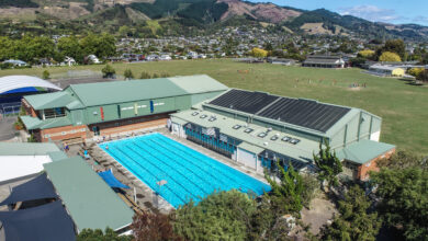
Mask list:
[[[274,160],[313,168],[326,139],[349,176],[367,180],[395,146],[379,142],[382,118],[360,108],[232,89],[171,114],[173,134],[223,153],[259,173]]]

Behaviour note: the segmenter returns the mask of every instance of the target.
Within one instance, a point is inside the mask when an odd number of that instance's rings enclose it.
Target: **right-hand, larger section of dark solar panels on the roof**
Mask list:
[[[281,97],[257,115],[325,133],[349,111],[312,100]]]

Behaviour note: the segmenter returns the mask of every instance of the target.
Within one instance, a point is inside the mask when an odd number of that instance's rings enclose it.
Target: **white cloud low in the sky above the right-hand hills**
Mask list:
[[[372,22],[393,23],[407,18],[398,15],[393,9],[381,9],[376,5],[354,5],[350,8],[339,8],[341,15],[353,15]]]

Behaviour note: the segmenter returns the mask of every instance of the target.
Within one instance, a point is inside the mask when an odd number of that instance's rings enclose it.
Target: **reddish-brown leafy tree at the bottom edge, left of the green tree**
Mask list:
[[[173,241],[181,240],[173,230],[170,218],[160,213],[137,214],[133,218],[131,228],[135,241]]]

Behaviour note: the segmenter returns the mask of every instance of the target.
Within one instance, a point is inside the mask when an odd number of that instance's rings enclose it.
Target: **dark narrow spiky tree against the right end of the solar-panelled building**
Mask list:
[[[323,149],[323,142],[326,149]],[[330,146],[326,139],[319,142],[318,154],[314,153],[315,165],[318,168],[318,179],[324,182],[327,181],[328,187],[338,184],[337,175],[342,171],[341,162],[336,157],[336,152],[330,151]]]

